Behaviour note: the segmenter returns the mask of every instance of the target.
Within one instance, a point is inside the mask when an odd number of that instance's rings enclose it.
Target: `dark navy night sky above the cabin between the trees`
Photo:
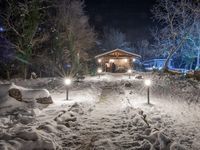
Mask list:
[[[154,4],[155,0],[85,0],[85,11],[98,32],[105,26],[114,27],[136,42],[150,38]]]

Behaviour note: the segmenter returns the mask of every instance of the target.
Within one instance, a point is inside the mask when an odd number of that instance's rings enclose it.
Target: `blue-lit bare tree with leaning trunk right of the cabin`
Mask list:
[[[157,41],[160,40],[159,44],[168,53],[164,70],[168,69],[169,60],[182,48],[191,34],[195,20],[195,13],[191,9],[193,6],[192,2],[187,0],[160,0],[152,9],[154,19],[162,26]]]

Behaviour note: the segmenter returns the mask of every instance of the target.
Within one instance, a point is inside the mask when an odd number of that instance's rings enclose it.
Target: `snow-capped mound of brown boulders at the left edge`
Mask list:
[[[0,113],[45,108],[53,103],[46,89],[27,89],[15,84],[0,85]],[[17,110],[17,111],[16,111]]]

